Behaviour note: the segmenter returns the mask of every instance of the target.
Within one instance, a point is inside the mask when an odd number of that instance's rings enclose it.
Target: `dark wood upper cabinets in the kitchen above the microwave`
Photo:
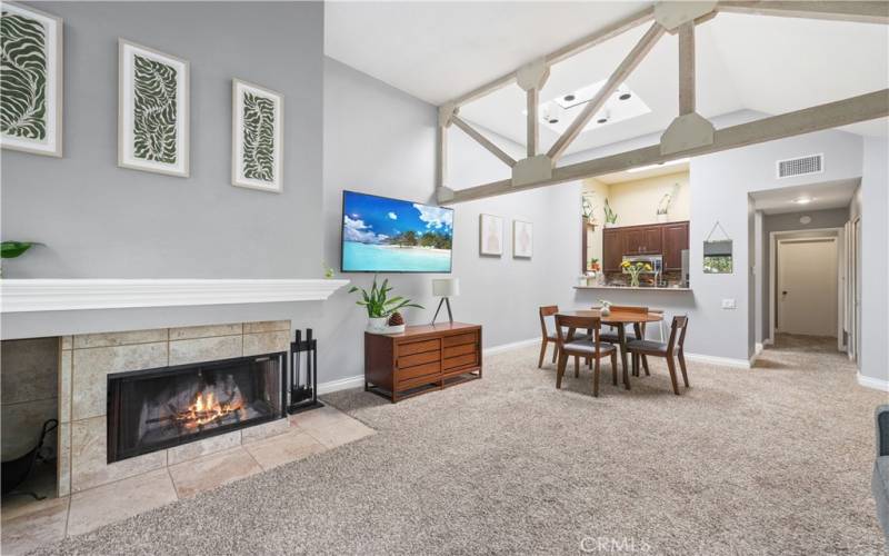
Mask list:
[[[620,271],[625,255],[663,255],[663,270],[681,270],[688,222],[626,226],[602,230],[602,270]]]

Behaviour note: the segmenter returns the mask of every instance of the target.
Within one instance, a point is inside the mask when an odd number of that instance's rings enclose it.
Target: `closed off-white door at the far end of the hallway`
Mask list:
[[[837,336],[837,240],[778,242],[778,330]]]

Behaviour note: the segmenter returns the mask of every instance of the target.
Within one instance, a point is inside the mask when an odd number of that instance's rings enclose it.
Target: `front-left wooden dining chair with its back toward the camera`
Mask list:
[[[575,376],[578,376],[578,358],[593,359],[592,370],[592,395],[599,396],[599,367],[602,357],[611,357],[611,381],[618,384],[618,350],[611,344],[602,344],[599,340],[601,329],[599,317],[569,317],[556,315],[556,338],[559,344],[559,366],[556,374],[556,388],[562,387],[562,376],[568,366],[568,358],[575,357]],[[568,328],[568,330],[566,330]],[[572,338],[571,330],[587,329],[592,331],[592,336],[581,339]]]

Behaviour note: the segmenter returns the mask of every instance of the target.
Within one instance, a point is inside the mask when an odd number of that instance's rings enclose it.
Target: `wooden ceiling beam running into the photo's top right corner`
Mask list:
[[[889,23],[889,2],[859,1],[736,1],[723,0],[717,4],[718,11],[778,16],[785,18],[828,19],[832,21],[856,21],[859,23]]]

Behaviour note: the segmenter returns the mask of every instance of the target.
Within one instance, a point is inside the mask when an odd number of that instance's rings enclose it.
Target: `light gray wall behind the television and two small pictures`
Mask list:
[[[343,189],[421,202],[434,202],[436,108],[332,59],[324,62],[324,257],[338,267],[341,195]],[[518,145],[497,137],[505,149],[521,152]],[[459,187],[485,181],[506,166],[477,146],[459,129],[449,136],[449,183]],[[540,334],[537,308],[567,304],[577,274],[580,218],[553,218],[566,206],[577,206],[580,186],[557,188],[462,203],[455,212],[453,274],[461,295],[451,300],[457,320],[483,326],[486,347],[536,338]],[[480,212],[505,217],[505,255],[478,254]],[[579,215],[579,209],[573,214]],[[530,260],[511,256],[511,220],[535,224],[535,254]],[[431,320],[437,298],[431,279],[441,275],[381,275],[399,295],[424,309],[404,312],[408,322]],[[372,275],[346,274],[368,287]],[[322,380],[354,377],[362,373],[361,335],[367,314],[344,290],[323,304],[321,338],[336,346],[321,350]],[[441,319],[441,316],[439,317]]]

